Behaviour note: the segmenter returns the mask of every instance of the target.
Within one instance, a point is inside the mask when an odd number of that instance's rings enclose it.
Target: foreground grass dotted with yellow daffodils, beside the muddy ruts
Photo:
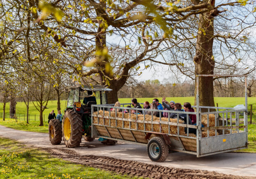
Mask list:
[[[0,138],[0,178],[127,179],[131,177],[70,163],[51,157],[50,154],[39,149],[28,149],[16,141]]]

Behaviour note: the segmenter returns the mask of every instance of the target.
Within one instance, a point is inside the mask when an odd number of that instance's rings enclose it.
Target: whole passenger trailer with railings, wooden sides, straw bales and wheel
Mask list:
[[[232,75],[197,75],[229,77]],[[246,75],[233,75],[245,78],[245,89],[247,89]],[[245,108],[232,107],[209,107],[199,106],[198,83],[196,112],[175,111],[177,115],[189,114],[196,115],[196,125],[182,123],[178,119],[170,119],[173,111],[151,110],[113,107],[113,105],[92,105],[92,137],[100,137],[109,140],[135,143],[147,146],[148,156],[152,161],[162,162],[172,151],[194,154],[197,157],[204,157],[212,154],[231,152],[247,148],[248,130],[247,130],[247,92],[245,90]],[[142,104],[142,103],[141,103]],[[114,108],[115,112],[111,113]],[[203,110],[204,109],[204,110]],[[206,110],[205,110],[206,109]],[[122,110],[122,112],[117,112]],[[129,113],[124,112],[129,110]],[[135,110],[136,114],[131,114]],[[143,111],[138,114],[137,111]],[[151,111],[151,120],[148,120],[145,112]],[[208,111],[208,112],[202,112]],[[168,112],[168,118],[155,120],[153,112]],[[243,118],[239,117],[243,113]],[[203,120],[203,121],[202,121]],[[204,123],[204,127],[202,127]],[[187,129],[186,133],[184,129]],[[189,129],[196,130],[195,134],[190,134]]]

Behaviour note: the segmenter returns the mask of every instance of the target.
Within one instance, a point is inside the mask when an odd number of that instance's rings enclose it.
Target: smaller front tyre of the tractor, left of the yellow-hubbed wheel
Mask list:
[[[48,133],[49,133],[51,144],[56,145],[61,143],[62,130],[61,130],[61,123],[58,119],[52,119],[49,122]]]

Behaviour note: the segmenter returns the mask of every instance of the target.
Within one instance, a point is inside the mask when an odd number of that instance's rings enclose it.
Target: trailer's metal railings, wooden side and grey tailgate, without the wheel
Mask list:
[[[196,76],[197,82],[198,77],[205,75]],[[210,75],[214,76],[214,75]],[[216,75],[215,75],[216,76]],[[221,76],[221,75],[218,75]],[[222,75],[228,77],[228,75]],[[230,76],[230,75],[229,75]],[[245,87],[246,75],[239,75],[245,77]],[[245,106],[246,108],[231,108],[231,107],[208,107],[199,106],[199,95],[198,95],[198,83],[197,83],[197,95],[196,95],[196,112],[181,112],[175,111],[177,113],[177,118],[179,119],[179,114],[187,115],[187,124],[170,121],[170,114],[174,111],[167,110],[150,110],[150,109],[138,109],[138,108],[127,108],[125,105],[131,105],[131,103],[121,104],[123,107],[114,107],[113,104],[109,105],[92,105],[92,137],[102,137],[105,139],[112,139],[117,141],[124,141],[129,143],[136,143],[140,145],[148,145],[150,139],[154,136],[161,136],[165,143],[168,145],[169,150],[177,152],[185,152],[189,154],[195,154],[197,157],[203,157],[212,154],[218,154],[223,152],[230,152],[234,150],[240,150],[247,148],[247,92],[245,91]],[[143,104],[143,103],[141,103]],[[117,116],[117,110],[115,110],[114,116],[111,116],[111,108],[122,109],[122,117]],[[129,110],[129,119],[124,118],[124,110]],[[202,109],[207,109],[208,112],[201,112]],[[215,109],[216,111],[211,111]],[[103,110],[103,115],[99,114],[99,110]],[[131,110],[136,111],[136,119],[131,119]],[[108,111],[108,116],[104,112]],[[143,120],[138,120],[137,111],[143,112]],[[156,112],[168,112],[168,121],[162,121],[161,115],[159,115],[159,121],[145,120],[145,112],[156,111]],[[204,110],[205,111],[205,110]],[[95,112],[95,113],[93,113]],[[243,112],[244,117],[240,120],[239,113]],[[113,114],[113,113],[112,113]],[[188,124],[189,114],[196,114],[196,125]],[[210,126],[210,116],[214,115],[214,126]],[[202,118],[207,118],[207,126],[202,127]],[[233,118],[233,116],[235,118]],[[229,117],[229,118],[228,118]],[[99,123],[99,119],[103,119],[103,124]],[[111,125],[115,121],[115,126]],[[234,122],[233,122],[234,120]],[[95,122],[96,121],[96,122]],[[240,121],[243,121],[243,125],[240,125]],[[118,127],[118,122],[122,123],[121,127]],[[129,122],[129,128],[124,127],[124,123]],[[131,123],[135,123],[136,128],[131,128]],[[138,129],[138,125],[143,124],[144,128]],[[151,124],[151,130],[146,130],[145,125]],[[159,125],[159,130],[155,132],[153,130],[153,125]],[[161,125],[168,125],[168,132],[161,131]],[[171,126],[177,126],[177,134],[172,134],[170,128]],[[180,127],[187,128],[187,133],[185,135],[180,134]],[[196,129],[196,137],[189,136],[189,128]],[[240,130],[241,129],[241,130]],[[215,134],[210,136],[210,131],[214,130]],[[129,131],[129,132],[127,132]],[[202,133],[207,131],[207,135],[202,137]],[[212,132],[211,132],[212,133]],[[127,136],[127,137],[125,137]]]

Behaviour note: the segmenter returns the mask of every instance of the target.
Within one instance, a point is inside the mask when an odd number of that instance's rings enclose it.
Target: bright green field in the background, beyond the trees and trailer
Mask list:
[[[158,98],[159,101],[162,101],[162,98]],[[139,103],[144,103],[145,101],[148,101],[152,103],[153,98],[137,98]],[[189,102],[192,105],[194,104],[194,97],[168,97],[166,98],[167,101],[175,101],[176,103],[179,102],[181,104],[185,102]],[[60,106],[61,106],[61,112],[63,109],[65,109],[65,100],[61,101]],[[119,99],[120,103],[131,103],[131,98],[120,98]],[[244,98],[223,98],[223,97],[215,97],[214,98],[215,106],[216,103],[218,103],[219,107],[234,107],[235,105],[238,104],[244,104]],[[248,98],[248,110],[250,109],[250,105],[253,107],[253,119],[256,120],[256,97],[250,97]],[[49,101],[47,105],[48,109],[45,109],[43,114],[45,116],[45,120],[47,121],[48,119],[48,114],[52,111],[55,110],[55,114],[57,115],[57,101]],[[3,112],[3,105],[0,103],[0,113]],[[6,112],[9,113],[9,103],[6,105]],[[20,120],[24,121],[24,115],[26,115],[26,106],[23,102],[18,102],[16,105],[16,114],[17,117]],[[35,121],[35,119],[38,121],[39,120],[39,112],[35,108],[35,106],[30,102],[30,107],[29,107],[29,114],[30,114],[30,120]],[[36,117],[35,117],[36,115]],[[7,116],[8,118],[8,116]],[[26,119],[26,116],[25,116]]]

